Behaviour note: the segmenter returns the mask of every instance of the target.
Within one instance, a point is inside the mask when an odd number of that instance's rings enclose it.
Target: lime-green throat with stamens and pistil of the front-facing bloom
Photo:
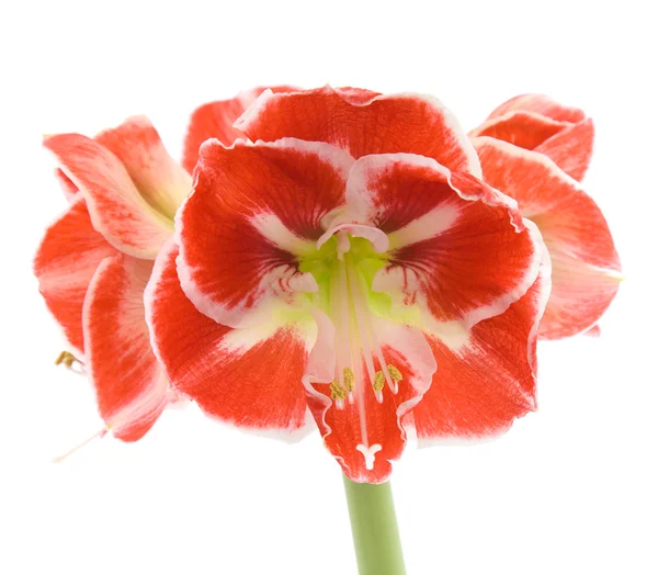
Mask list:
[[[370,444],[366,394],[378,403],[385,387],[397,394],[402,374],[388,363],[375,329],[373,307],[385,305],[387,296],[371,291],[372,279],[386,261],[364,238],[338,232],[300,269],[313,273],[319,291],[319,305],[333,322],[336,339],[334,379],[329,384],[337,409],[355,409],[361,430],[356,449],[373,469],[378,443]]]

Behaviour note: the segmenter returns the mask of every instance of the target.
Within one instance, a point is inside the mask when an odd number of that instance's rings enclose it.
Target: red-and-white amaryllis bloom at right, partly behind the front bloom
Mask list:
[[[622,279],[605,218],[577,181],[593,135],[581,110],[538,94],[511,99],[470,132],[483,179],[517,200],[551,253],[553,288],[540,329],[547,339],[591,331]]]

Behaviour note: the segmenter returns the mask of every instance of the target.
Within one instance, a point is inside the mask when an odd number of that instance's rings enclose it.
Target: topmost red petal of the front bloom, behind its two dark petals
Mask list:
[[[236,122],[251,139],[292,136],[327,142],[354,158],[405,151],[479,176],[477,155],[452,113],[420,94],[382,95],[325,87],[294,93],[265,91]]]

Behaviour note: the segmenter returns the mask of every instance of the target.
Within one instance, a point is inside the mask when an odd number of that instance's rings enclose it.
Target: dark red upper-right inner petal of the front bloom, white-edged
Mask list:
[[[515,204],[473,176],[408,154],[368,156],[348,182],[349,212],[388,235],[373,290],[428,312],[428,327],[472,326],[532,285],[541,239]]]

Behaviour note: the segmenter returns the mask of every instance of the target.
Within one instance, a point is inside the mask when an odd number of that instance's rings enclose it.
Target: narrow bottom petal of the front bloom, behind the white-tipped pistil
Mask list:
[[[395,365],[402,375],[396,394],[385,387],[381,392],[382,402],[377,399],[365,359],[354,370],[352,401],[331,399],[327,385],[333,379],[330,371],[321,370],[324,377],[316,373],[305,379],[308,406],[327,448],[345,475],[358,483],[388,480],[392,462],[400,458],[407,443],[402,418],[427,392],[436,370],[432,350],[420,330],[379,318],[375,318],[374,329],[386,363]],[[332,339],[332,332],[330,338],[320,332],[319,345],[327,339]],[[372,362],[375,370],[381,369],[376,354]]]

